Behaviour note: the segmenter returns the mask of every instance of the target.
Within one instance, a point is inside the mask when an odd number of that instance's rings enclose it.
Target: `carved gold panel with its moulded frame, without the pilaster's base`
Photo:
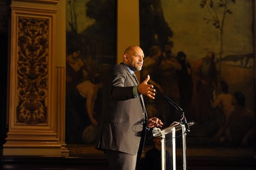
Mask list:
[[[46,13],[47,12],[47,13]],[[47,15],[46,15],[47,14]],[[55,11],[12,7],[14,125],[50,125]],[[15,59],[15,61],[14,61]],[[15,82],[15,83],[14,83]],[[13,84],[14,83],[14,84]],[[12,102],[14,102],[12,100]]]

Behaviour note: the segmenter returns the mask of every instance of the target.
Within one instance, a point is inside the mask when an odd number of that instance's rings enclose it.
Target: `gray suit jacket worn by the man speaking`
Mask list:
[[[125,64],[115,65],[108,76],[96,148],[135,155],[139,145],[143,145],[141,138],[145,138],[147,113],[143,96],[133,95],[133,87],[138,83]]]

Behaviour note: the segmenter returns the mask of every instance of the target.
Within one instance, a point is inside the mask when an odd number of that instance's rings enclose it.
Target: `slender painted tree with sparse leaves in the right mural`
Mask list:
[[[207,9],[211,14],[211,17],[204,17],[203,20],[207,22],[207,24],[211,23],[213,27],[215,27],[220,32],[220,51],[219,51],[219,74],[221,74],[221,59],[223,55],[223,30],[224,23],[226,20],[226,15],[233,14],[231,9],[229,9],[229,4],[235,4],[235,0],[202,0],[200,1],[200,7],[202,9]]]

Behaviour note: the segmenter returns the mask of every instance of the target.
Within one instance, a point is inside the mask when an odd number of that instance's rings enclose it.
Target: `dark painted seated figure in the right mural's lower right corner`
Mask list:
[[[244,94],[240,91],[235,92],[233,104],[235,109],[229,118],[222,140],[227,140],[233,145],[255,145],[255,114],[245,107]]]

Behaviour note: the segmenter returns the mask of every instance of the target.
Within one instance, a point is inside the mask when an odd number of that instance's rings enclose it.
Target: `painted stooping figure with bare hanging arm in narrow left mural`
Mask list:
[[[100,113],[95,113],[95,101],[98,99],[98,90],[102,83],[100,75],[96,74],[92,80],[84,80],[72,88],[69,96],[69,108],[67,109],[67,142],[68,143],[90,143],[95,140],[93,135],[96,134]],[[95,128],[90,132],[86,128],[93,125]]]

